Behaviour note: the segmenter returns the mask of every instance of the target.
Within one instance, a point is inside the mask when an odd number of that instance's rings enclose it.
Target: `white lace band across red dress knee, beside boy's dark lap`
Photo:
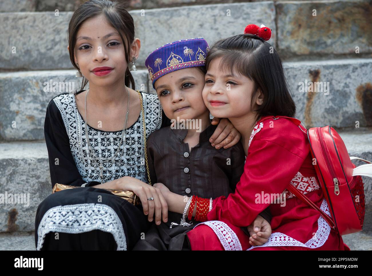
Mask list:
[[[205,221],[195,225],[195,227],[201,224],[208,225],[212,228],[225,250],[242,250],[238,236],[225,222]]]

